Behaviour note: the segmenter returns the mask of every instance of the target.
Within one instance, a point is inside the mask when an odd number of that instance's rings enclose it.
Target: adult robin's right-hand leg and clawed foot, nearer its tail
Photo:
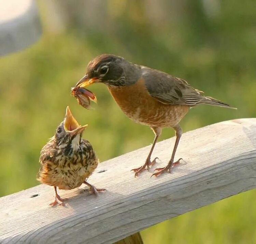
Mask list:
[[[158,171],[158,172],[152,174],[152,176],[153,175],[158,176],[158,175],[160,175],[162,173],[165,173],[165,172],[171,173],[172,166],[175,166],[175,165],[179,164],[180,160],[182,159],[182,158],[180,158],[176,162],[173,162],[174,161],[174,156],[175,156],[175,153],[176,153],[176,149],[177,149],[177,146],[179,144],[179,141],[180,141],[181,135],[182,135],[182,129],[179,125],[176,125],[175,127],[173,127],[173,129],[175,130],[176,140],[175,140],[174,148],[173,148],[173,151],[172,151],[171,159],[170,159],[170,161],[169,161],[169,163],[167,164],[166,167],[155,169],[155,171]]]

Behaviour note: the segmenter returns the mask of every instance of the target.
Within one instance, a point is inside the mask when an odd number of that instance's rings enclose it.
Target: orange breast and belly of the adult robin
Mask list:
[[[146,90],[143,78],[131,86],[108,88],[122,111],[140,124],[154,127],[175,126],[189,110],[188,106],[168,105],[157,101]]]

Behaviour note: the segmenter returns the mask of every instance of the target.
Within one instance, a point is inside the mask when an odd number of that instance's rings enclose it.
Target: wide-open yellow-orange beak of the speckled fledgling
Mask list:
[[[66,116],[63,122],[64,129],[70,134],[81,134],[88,125],[81,126],[71,114],[69,106],[66,109]]]

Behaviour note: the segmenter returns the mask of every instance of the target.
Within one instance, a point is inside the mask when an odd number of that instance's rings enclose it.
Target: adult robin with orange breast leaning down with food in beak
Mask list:
[[[202,103],[229,107],[222,101],[201,95],[202,91],[193,88],[181,78],[133,64],[112,54],[102,54],[91,60],[85,76],[76,86],[86,87],[98,82],[108,86],[114,100],[130,119],[150,126],[155,133],[145,163],[133,169],[135,177],[145,168],[149,170],[149,166],[156,162],[156,158],[151,160],[151,154],[163,127],[172,127],[175,130],[176,141],[169,163],[164,168],[156,169],[154,176],[170,173],[173,164],[179,163],[180,159],[174,162],[182,135],[179,122],[191,107]]]

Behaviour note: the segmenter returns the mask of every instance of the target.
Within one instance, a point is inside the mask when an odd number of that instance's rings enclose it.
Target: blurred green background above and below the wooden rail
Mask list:
[[[256,117],[255,0],[38,1],[43,35],[0,58],[0,196],[39,184],[39,152],[69,105],[101,161],[149,145],[104,85],[88,111],[70,96],[87,63],[113,53],[187,80],[238,110],[200,105],[183,131]],[[140,137],[138,138],[138,134]],[[174,135],[164,129],[160,140]],[[256,243],[256,191],[222,200],[141,232],[144,243]]]

